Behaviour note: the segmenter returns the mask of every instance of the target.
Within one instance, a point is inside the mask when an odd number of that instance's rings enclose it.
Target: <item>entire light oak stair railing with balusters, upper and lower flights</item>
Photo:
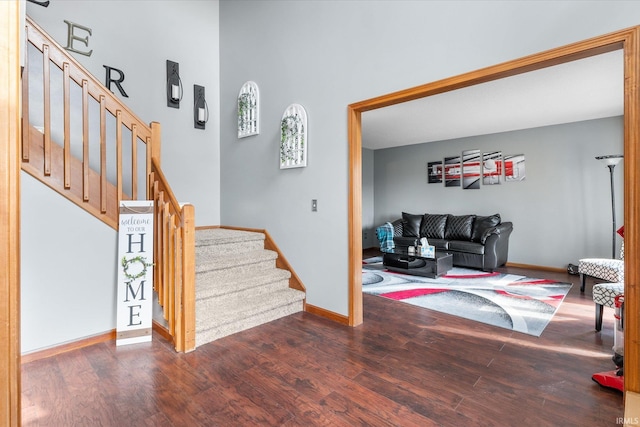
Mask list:
[[[142,122],[28,17],[26,33],[22,170],[115,230],[122,200],[156,201],[154,289],[176,350],[193,350],[194,209],[164,179],[160,125]]]

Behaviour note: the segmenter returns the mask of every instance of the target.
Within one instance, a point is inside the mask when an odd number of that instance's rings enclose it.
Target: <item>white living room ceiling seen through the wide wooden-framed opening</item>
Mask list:
[[[622,50],[362,114],[372,150],[623,115]]]

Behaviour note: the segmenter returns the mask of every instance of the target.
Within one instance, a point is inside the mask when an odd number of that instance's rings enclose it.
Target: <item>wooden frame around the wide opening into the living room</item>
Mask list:
[[[363,112],[539,70],[622,49],[624,51],[625,391],[640,393],[640,26],[526,56],[348,106],[349,139],[349,324],[360,325],[362,308],[362,121]]]

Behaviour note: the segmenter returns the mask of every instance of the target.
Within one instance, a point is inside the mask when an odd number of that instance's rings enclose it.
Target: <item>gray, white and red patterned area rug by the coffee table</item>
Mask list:
[[[571,283],[454,267],[438,279],[388,271],[363,261],[362,290],[465,319],[539,337]]]

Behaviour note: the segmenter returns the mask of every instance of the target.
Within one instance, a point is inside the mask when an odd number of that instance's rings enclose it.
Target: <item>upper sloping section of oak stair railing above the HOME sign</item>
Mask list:
[[[146,147],[145,176],[149,176],[151,154],[160,151],[159,147],[154,148],[154,145],[159,145],[154,144],[154,139],[159,141],[159,132],[154,134],[153,124],[148,125],[138,118],[35,22],[27,18],[26,23],[29,46],[42,53],[43,106],[42,117],[30,117],[30,103],[23,104],[23,169],[117,229],[120,200],[150,196],[148,192],[138,195],[138,145]],[[28,99],[30,85],[32,90],[36,90],[36,82],[29,79],[29,69],[36,64],[27,65],[23,79],[25,99]],[[57,74],[53,70],[56,67],[60,70],[61,79],[55,78]],[[81,93],[80,100],[76,102],[71,99],[74,87]],[[61,101],[52,96],[56,92],[62,93]],[[90,116],[93,104],[98,111],[97,117]],[[33,107],[33,103],[31,105]],[[57,133],[52,129],[52,111],[63,112],[62,129]],[[81,123],[81,131],[76,134],[71,129],[73,113],[80,117],[78,121]],[[41,136],[32,128],[34,119],[42,124]],[[92,133],[94,129],[97,137]],[[126,155],[123,149],[124,129],[131,133],[128,155],[131,161],[126,165],[123,163]],[[32,138],[26,138],[29,135]],[[114,135],[115,141],[109,140],[108,135]],[[72,156],[74,148],[82,153],[77,159]],[[116,152],[115,161],[107,156],[113,152]]]

